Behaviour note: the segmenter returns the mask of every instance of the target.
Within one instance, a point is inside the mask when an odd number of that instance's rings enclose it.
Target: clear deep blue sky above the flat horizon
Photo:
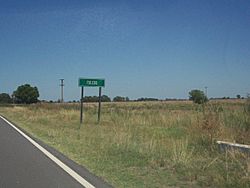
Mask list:
[[[235,97],[249,73],[248,0],[0,0],[0,93],[29,83],[57,100],[64,78],[77,100],[78,78],[100,77],[112,98]]]

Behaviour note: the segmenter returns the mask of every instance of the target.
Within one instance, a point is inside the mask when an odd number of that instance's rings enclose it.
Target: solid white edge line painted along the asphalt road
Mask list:
[[[28,135],[23,133],[20,129],[18,129],[16,126],[14,126],[12,123],[10,123],[7,119],[0,116],[5,122],[7,122],[11,127],[13,127],[17,132],[19,132],[23,137],[25,137],[29,142],[31,142],[35,147],[37,147],[41,152],[43,152],[48,158],[50,158],[52,161],[54,161],[58,166],[60,166],[65,172],[67,172],[70,176],[72,176],[76,181],[78,181],[81,185],[83,185],[86,188],[94,188],[92,184],[90,184],[88,181],[86,181],[83,177],[81,177],[79,174],[77,174],[74,170],[72,170],[69,166],[64,164],[62,161],[60,161],[58,158],[56,158],[54,155],[52,155],[49,151],[44,149],[42,146],[40,146],[38,143],[36,143],[32,138],[30,138]]]

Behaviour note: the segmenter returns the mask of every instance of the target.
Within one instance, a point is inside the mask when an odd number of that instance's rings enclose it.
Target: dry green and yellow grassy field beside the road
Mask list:
[[[36,104],[0,107],[18,126],[114,187],[250,187],[250,157],[216,140],[250,144],[247,101]]]

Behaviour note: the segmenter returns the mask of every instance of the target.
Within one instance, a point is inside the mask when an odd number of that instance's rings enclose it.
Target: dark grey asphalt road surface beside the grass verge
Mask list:
[[[34,140],[93,187],[110,187],[84,167],[77,165],[41,141]],[[80,188],[84,186],[0,117],[0,187]]]

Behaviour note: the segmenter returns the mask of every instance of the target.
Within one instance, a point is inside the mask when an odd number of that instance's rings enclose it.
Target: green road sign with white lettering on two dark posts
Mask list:
[[[80,123],[82,124],[83,119],[83,91],[84,87],[99,87],[99,105],[98,105],[98,123],[101,119],[101,96],[102,96],[102,87],[105,87],[104,79],[95,79],[95,78],[79,78],[78,81],[79,87],[81,87],[81,112],[80,112]]]

